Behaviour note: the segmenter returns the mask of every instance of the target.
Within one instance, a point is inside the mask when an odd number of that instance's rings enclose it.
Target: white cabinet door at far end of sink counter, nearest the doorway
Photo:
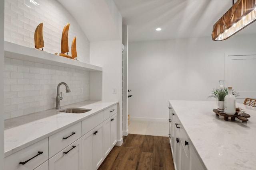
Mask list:
[[[117,142],[117,113],[104,121],[104,157]]]

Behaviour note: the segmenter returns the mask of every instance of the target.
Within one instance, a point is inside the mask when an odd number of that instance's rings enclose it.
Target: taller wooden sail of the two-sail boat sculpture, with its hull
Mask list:
[[[62,37],[61,37],[61,53],[55,53],[56,55],[60,55],[62,57],[67,57],[70,59],[73,59],[70,55],[68,55],[68,29],[69,29],[69,23],[65,25],[62,31]],[[67,53],[67,54],[65,54]]]

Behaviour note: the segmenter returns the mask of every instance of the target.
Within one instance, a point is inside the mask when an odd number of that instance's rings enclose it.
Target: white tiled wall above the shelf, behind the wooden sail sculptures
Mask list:
[[[34,31],[39,23],[44,23],[44,51],[60,53],[60,42],[63,27],[70,23],[68,31],[69,55],[71,43],[76,36],[77,59],[89,63],[89,41],[74,17],[56,0],[36,1],[5,0],[4,40],[25,47],[34,48]]]

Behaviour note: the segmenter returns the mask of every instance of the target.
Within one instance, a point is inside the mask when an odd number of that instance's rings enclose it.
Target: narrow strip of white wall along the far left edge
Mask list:
[[[4,1],[0,1],[0,169],[4,169]]]

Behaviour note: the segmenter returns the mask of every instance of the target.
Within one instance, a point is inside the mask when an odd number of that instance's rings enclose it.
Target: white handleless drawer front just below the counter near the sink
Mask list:
[[[93,115],[82,121],[82,135],[85,135],[94,127],[98,126],[100,123],[104,121],[104,111]]]

